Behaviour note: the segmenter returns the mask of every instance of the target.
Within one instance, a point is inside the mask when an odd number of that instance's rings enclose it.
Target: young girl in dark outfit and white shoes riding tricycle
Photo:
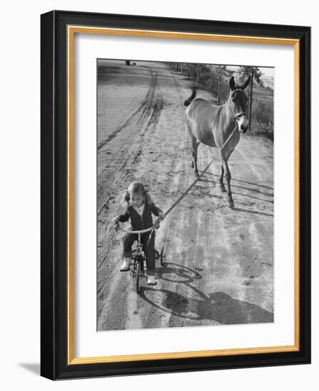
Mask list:
[[[122,197],[122,204],[126,206],[125,213],[113,218],[113,223],[119,221],[124,223],[130,220],[132,230],[146,230],[152,227],[152,213],[159,216],[161,220],[165,218],[160,208],[157,208],[152,202],[150,195],[145,191],[145,187],[140,182],[133,182],[128,186],[127,192]],[[143,251],[145,252],[147,265],[147,284],[156,285],[155,281],[155,234],[153,233],[149,244],[150,232],[141,234]],[[127,272],[130,269],[132,244],[137,240],[137,234],[127,234],[123,238],[123,263],[121,272]]]

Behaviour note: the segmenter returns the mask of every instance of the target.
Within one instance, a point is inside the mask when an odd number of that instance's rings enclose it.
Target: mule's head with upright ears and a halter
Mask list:
[[[229,107],[231,108],[231,114],[238,125],[239,131],[243,133],[246,133],[248,129],[248,119],[246,115],[248,99],[244,90],[247,85],[249,85],[250,81],[250,76],[243,85],[236,85],[234,76],[229,80],[229,87],[231,88],[229,94]]]

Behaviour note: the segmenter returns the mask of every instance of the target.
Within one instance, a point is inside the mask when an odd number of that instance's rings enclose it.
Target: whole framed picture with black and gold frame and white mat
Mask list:
[[[310,28],[41,16],[41,375],[310,363]]]

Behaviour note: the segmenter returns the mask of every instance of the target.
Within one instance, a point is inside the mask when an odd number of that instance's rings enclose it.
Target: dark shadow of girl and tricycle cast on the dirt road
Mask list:
[[[163,277],[163,274],[169,273],[173,274],[173,276]],[[161,311],[180,318],[192,319],[195,324],[196,321],[203,320],[214,321],[220,324],[273,322],[273,313],[260,306],[233,299],[229,294],[221,291],[211,292],[208,295],[204,294],[204,292],[192,285],[194,279],[202,278],[194,269],[170,262],[162,269],[157,269],[157,275],[159,279],[182,283],[190,291],[194,291],[192,297],[188,297],[169,289],[141,287],[140,295],[142,299]],[[184,278],[184,280],[180,281],[180,278]]]

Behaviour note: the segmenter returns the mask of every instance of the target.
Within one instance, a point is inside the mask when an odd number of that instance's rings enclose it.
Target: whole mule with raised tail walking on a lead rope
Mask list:
[[[234,200],[231,195],[231,172],[228,160],[239,143],[240,132],[246,133],[248,120],[246,116],[247,96],[244,90],[249,85],[251,77],[242,85],[236,85],[234,77],[229,80],[229,96],[224,105],[216,106],[209,100],[196,97],[197,90],[193,89],[192,95],[185,100],[187,129],[192,138],[192,167],[198,176],[197,149],[200,143],[220,149],[230,134],[234,131],[229,141],[221,149],[221,175],[219,185],[221,191],[226,192],[224,186],[224,174],[227,181],[227,195],[229,208],[234,208]],[[234,128],[236,129],[234,130]]]

